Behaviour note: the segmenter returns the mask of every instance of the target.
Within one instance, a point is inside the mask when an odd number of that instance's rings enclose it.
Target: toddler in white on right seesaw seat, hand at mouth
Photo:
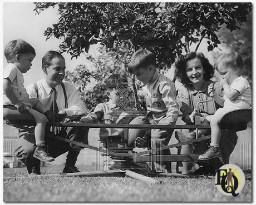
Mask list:
[[[247,79],[241,76],[243,69],[243,59],[237,52],[229,52],[221,55],[215,63],[221,81],[220,86],[224,89],[224,97],[221,98],[214,92],[212,86],[208,87],[208,92],[213,93],[213,98],[223,108],[217,109],[214,115],[207,116],[203,124],[209,124],[211,127],[210,148],[204,154],[199,156],[200,160],[208,160],[220,157],[220,119],[228,112],[238,109],[249,109],[252,107],[252,89]]]

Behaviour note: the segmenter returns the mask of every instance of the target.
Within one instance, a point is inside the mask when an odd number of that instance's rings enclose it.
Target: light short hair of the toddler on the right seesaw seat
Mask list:
[[[243,58],[237,52],[228,52],[222,54],[214,64],[215,69],[218,71],[219,64],[230,66],[242,70],[244,66]]]

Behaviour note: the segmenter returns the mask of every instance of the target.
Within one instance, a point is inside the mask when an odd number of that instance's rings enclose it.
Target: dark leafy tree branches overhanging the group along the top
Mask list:
[[[220,43],[220,27],[238,29],[252,9],[251,3],[36,3],[35,11],[55,6],[60,18],[44,34],[62,38],[62,52],[78,57],[100,41],[118,53],[121,43],[129,42],[135,50],[154,52],[160,69],[203,38],[212,51]]]

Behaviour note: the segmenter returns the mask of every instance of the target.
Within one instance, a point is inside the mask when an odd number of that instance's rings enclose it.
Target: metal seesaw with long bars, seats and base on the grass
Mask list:
[[[209,100],[211,101],[211,99]],[[201,101],[197,105],[197,110],[199,110],[199,104],[205,103],[209,101]],[[251,109],[240,109],[237,111],[232,111],[227,114],[221,119],[220,121],[220,127],[221,129],[228,129],[232,132],[242,131],[247,128],[247,123],[252,117],[252,110]],[[82,123],[61,123],[61,122],[55,122],[55,119],[53,118],[52,126],[62,126],[62,127],[85,127],[85,128],[123,128],[124,129],[124,138],[122,139],[124,142],[128,142],[129,137],[129,129],[156,129],[156,128],[162,128],[162,129],[196,129],[196,132],[198,132],[198,129],[210,129],[210,126],[203,126],[200,123],[200,117],[196,116],[195,118],[195,124],[194,125],[164,125],[164,124],[99,124],[99,123],[91,123],[91,124],[82,124]],[[21,129],[31,129],[27,128],[26,126],[29,125],[35,125],[35,122],[18,122],[18,121],[8,121],[7,124],[13,127],[21,128]],[[26,125],[26,126],[25,126]],[[105,148],[99,148],[99,147],[93,147],[88,144],[84,144],[81,142],[72,141],[70,139],[62,138],[55,136],[56,139],[60,141],[65,141],[68,143],[76,144],[79,147],[93,149],[95,151],[101,152],[104,155],[111,156],[112,159],[119,159],[122,161],[132,161],[132,162],[156,162],[156,161],[171,161],[171,162],[185,162],[185,161],[199,161],[198,157],[200,154],[171,154],[169,156],[164,155],[156,155],[155,153],[159,153],[159,151],[163,151],[164,149],[170,149],[170,148],[178,148],[180,149],[181,146],[185,144],[191,144],[191,143],[198,143],[207,139],[210,139],[210,136],[203,136],[198,138],[198,134],[196,134],[195,139],[191,139],[190,141],[185,142],[179,142],[175,144],[170,144],[168,146],[158,147],[155,149],[148,149],[146,151],[142,152],[132,152],[131,149],[127,149],[127,144],[125,148],[120,149],[112,149],[111,147],[109,149]],[[107,139],[108,140],[108,139]],[[126,171],[126,176],[130,176],[136,179],[141,178],[139,175],[131,171]],[[99,173],[100,174],[100,173]],[[72,175],[72,174],[71,174]],[[79,175],[79,174],[78,174]],[[81,175],[81,174],[80,174]],[[86,174],[85,174],[86,175]],[[156,173],[158,176],[179,176],[179,177],[185,177],[184,174],[174,174],[174,173]],[[145,179],[145,178],[144,178]],[[141,179],[142,180],[142,179]],[[144,180],[145,181],[145,180]],[[148,182],[152,182],[148,180]]]

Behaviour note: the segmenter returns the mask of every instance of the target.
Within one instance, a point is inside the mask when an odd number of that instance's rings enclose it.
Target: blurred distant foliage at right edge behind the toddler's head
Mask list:
[[[238,52],[244,60],[243,75],[252,84],[252,13],[248,15],[248,21],[237,31],[230,32],[228,29],[221,28],[218,37],[221,44],[230,51]]]

